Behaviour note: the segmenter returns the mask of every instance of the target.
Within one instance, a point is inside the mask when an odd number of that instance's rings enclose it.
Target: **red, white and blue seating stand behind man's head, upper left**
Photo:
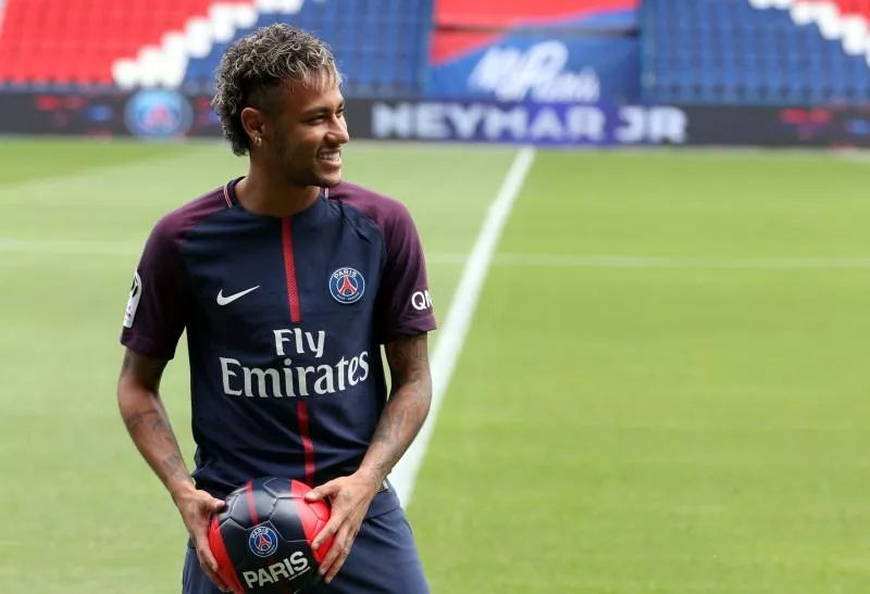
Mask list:
[[[209,88],[221,52],[273,22],[332,47],[348,94],[419,92],[432,0],[7,0],[0,81]]]

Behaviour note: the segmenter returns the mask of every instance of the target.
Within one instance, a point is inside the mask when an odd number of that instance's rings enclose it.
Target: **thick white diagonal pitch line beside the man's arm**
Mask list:
[[[523,187],[525,176],[534,159],[535,151],[529,147],[520,149],[513,159],[495,201],[489,205],[483,227],[481,227],[477,239],[474,242],[474,248],[472,248],[471,254],[465,262],[450,308],[447,311],[447,316],[442,326],[443,329],[438,333],[438,341],[431,363],[432,407],[430,408],[428,417],[417,439],[393,469],[393,473],[389,477],[405,507],[411,502],[417,473],[432,439],[438,409],[450,384],[450,378],[462,351],[462,344],[465,342],[465,334],[468,334],[471,326],[477,299],[486,279],[489,264],[493,261],[493,254],[495,254],[498,245],[498,240],[501,237],[501,230],[505,228],[513,203]]]

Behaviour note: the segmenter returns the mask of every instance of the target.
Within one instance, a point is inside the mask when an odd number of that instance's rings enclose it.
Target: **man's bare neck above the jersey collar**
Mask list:
[[[293,186],[253,167],[236,185],[236,198],[246,211],[276,217],[301,213],[318,200],[320,192],[316,186]]]

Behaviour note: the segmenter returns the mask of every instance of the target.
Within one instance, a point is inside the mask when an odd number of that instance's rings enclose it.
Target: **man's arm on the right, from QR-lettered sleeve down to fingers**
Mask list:
[[[427,341],[436,324],[423,247],[405,205],[385,200],[381,206],[386,263],[373,324],[375,339],[386,351],[393,388],[357,471],[306,495],[332,503],[330,521],[312,543],[316,549],[333,539],[320,564],[327,583],[347,559],[369,505],[420,432],[432,402]]]

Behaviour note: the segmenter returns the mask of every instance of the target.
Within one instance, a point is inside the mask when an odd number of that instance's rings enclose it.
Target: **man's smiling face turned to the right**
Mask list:
[[[337,86],[320,90],[297,84],[283,89],[276,101],[268,144],[271,166],[294,186],[338,185],[341,147],[350,140],[341,91]]]

